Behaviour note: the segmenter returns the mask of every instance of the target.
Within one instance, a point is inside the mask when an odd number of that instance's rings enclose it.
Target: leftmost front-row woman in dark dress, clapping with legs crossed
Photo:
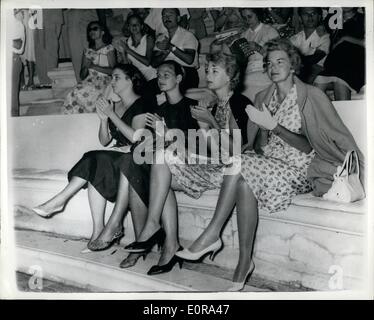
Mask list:
[[[96,112],[100,118],[100,143],[108,146],[114,140],[116,148],[85,153],[69,171],[67,186],[47,202],[33,208],[36,214],[50,217],[63,211],[68,200],[80,189],[88,187],[93,219],[93,232],[87,245],[90,250],[97,249],[93,246],[94,240],[101,237],[103,230],[110,231],[106,239],[109,243],[123,236],[122,221],[118,220],[114,226],[110,219],[113,226],[104,229],[106,201],[116,200],[119,159],[134,143],[135,131],[146,124],[146,103],[141,97],[145,79],[140,71],[130,64],[118,64],[114,67],[111,85],[120,101],[113,103],[101,98],[96,103]]]

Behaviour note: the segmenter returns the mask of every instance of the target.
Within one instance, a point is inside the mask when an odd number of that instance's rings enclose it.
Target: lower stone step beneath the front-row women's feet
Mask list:
[[[157,264],[159,254],[151,252],[145,260],[128,269],[120,269],[127,252],[113,246],[100,252],[81,253],[87,241],[30,230],[16,231],[17,270],[42,272],[43,278],[95,292],[225,292],[231,281],[214,274],[192,270],[184,263],[171,272],[147,276]],[[244,291],[267,291],[246,285]]]

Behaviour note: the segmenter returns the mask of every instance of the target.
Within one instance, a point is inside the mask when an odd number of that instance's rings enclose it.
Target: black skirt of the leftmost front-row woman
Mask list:
[[[91,185],[108,201],[115,202],[119,183],[119,164],[126,154],[117,151],[89,151],[68,172],[69,181],[80,177]],[[87,184],[83,187],[87,188]]]

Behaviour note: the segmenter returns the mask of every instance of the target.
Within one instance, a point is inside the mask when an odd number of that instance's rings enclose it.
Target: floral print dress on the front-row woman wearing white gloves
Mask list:
[[[280,125],[294,133],[301,132],[295,85],[281,103],[275,90],[268,108]],[[254,151],[241,155],[241,175],[253,191],[259,209],[269,213],[286,210],[294,196],[312,190],[307,169],[314,151],[303,153],[272,132],[262,150],[262,155]]]

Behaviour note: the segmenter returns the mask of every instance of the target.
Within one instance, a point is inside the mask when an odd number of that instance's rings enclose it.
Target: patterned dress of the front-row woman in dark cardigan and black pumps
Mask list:
[[[229,128],[231,115],[230,96],[218,102],[214,116],[222,129]],[[221,161],[219,163],[210,163],[209,160],[206,164],[181,164],[181,161],[184,161],[182,157],[184,155],[176,155],[169,150],[165,152],[165,162],[172,173],[173,182],[177,184],[178,190],[197,199],[200,198],[204,191],[221,187],[227,164]],[[190,160],[189,155],[188,161]]]

